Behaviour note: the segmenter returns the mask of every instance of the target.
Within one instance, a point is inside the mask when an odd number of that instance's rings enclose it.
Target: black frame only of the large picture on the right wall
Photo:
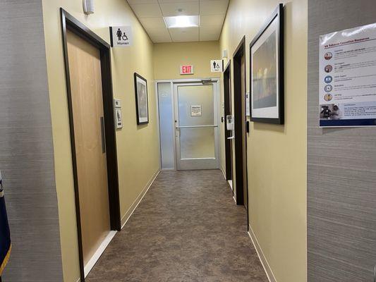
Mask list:
[[[278,74],[277,79],[277,109],[278,115],[276,117],[260,117],[253,112],[253,53],[252,48],[255,45],[260,37],[268,30],[270,25],[277,20],[277,46],[278,50],[277,59],[278,66],[276,71]],[[273,123],[273,124],[284,124],[284,5],[279,4],[277,8],[272,13],[272,16],[269,17],[267,22],[262,26],[257,35],[250,42],[250,121],[257,123]],[[266,108],[265,108],[266,109]]]

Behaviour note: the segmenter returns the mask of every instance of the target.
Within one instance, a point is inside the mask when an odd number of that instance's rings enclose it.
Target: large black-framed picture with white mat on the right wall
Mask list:
[[[250,120],[284,124],[284,6],[250,42]]]

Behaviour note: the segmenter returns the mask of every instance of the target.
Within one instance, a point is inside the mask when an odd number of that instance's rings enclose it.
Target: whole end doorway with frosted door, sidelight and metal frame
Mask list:
[[[218,79],[156,83],[162,169],[219,168]]]

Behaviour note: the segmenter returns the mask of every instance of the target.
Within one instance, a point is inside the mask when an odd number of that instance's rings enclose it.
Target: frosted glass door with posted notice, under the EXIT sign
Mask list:
[[[174,85],[174,105],[176,168],[219,168],[217,83]]]

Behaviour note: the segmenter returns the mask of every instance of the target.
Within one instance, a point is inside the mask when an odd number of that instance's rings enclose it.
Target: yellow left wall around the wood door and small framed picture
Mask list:
[[[80,273],[60,7],[107,42],[109,42],[110,25],[132,25],[133,27],[133,46],[111,51],[114,97],[121,99],[123,106],[124,128],[116,133],[122,216],[126,214],[154,173],[158,171],[159,146],[152,68],[153,46],[126,1],[95,1],[95,13],[85,16],[81,0],[43,0],[63,275],[65,282],[75,282]],[[133,86],[133,72],[135,71],[148,80],[150,111],[148,125],[137,126],[136,124]]]

